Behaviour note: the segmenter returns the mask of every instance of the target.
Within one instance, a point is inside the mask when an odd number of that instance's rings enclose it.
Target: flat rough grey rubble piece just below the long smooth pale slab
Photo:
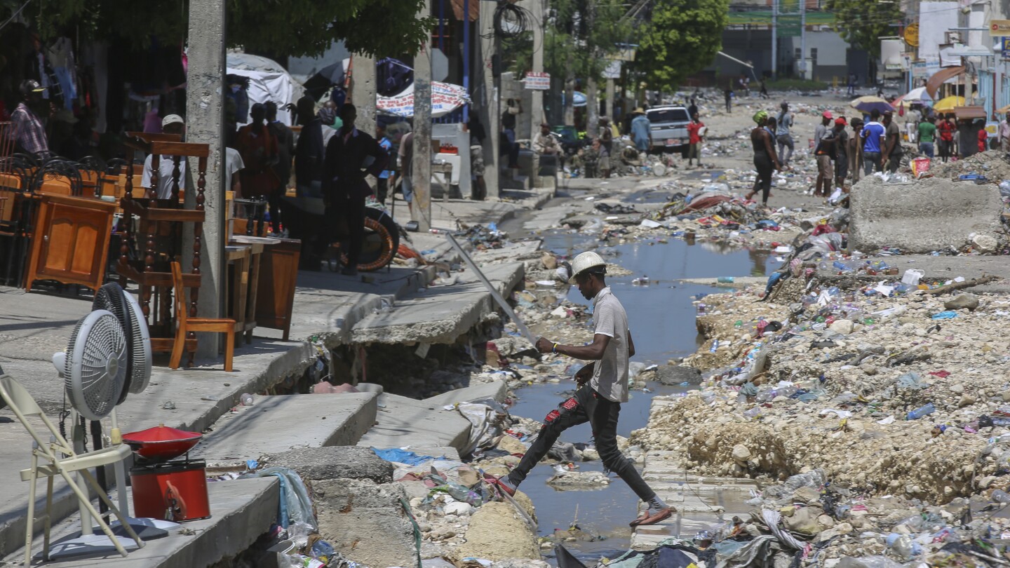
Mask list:
[[[371,448],[330,446],[301,448],[264,457],[269,467],[295,470],[302,479],[371,479],[376,483],[393,481],[393,464],[380,458]]]

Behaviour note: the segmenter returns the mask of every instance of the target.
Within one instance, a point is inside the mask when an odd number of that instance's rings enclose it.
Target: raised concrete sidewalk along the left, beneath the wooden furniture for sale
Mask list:
[[[454,229],[454,219],[467,223],[501,222],[549,198],[549,194],[539,192],[514,203],[467,200],[450,200],[438,206],[433,203],[432,223]],[[402,219],[401,206],[402,202],[397,204],[397,216]],[[411,233],[411,236],[419,250],[448,252],[441,235]],[[257,329],[251,345],[236,347],[232,373],[223,372],[220,360],[199,359],[195,368],[172,371],[167,366],[168,354],[156,355],[148,388],[141,394],[129,395],[117,407],[121,429],[125,433],[164,423],[202,432],[238,404],[241,393],[263,391],[285,377],[301,374],[314,363],[315,350],[309,338],[318,337],[329,349],[349,343],[352,327],[372,315],[373,308],[381,306],[383,299],[395,301],[416,295],[415,291],[433,278],[432,267],[393,267],[365,279],[325,271],[299,272],[291,341],[281,341],[278,330]],[[511,286],[515,278],[503,275],[501,281]],[[470,290],[490,297],[486,290]],[[495,309],[493,302],[480,303]],[[37,291],[25,294],[23,290],[0,287],[0,366],[27,388],[49,416],[58,416],[64,407],[64,385],[53,367],[53,354],[66,350],[78,319],[90,311],[91,300],[84,296]],[[342,326],[337,325],[339,319],[343,320]],[[174,409],[164,408],[169,401],[175,405]],[[27,486],[18,481],[18,472],[29,466],[30,447],[29,437],[10,410],[0,410],[0,480],[3,480],[0,558],[23,543]],[[60,487],[60,481],[57,484],[55,517],[62,518],[74,512],[77,505],[66,487]],[[44,486],[42,489],[36,510],[44,507]],[[40,529],[36,525],[36,530]]]

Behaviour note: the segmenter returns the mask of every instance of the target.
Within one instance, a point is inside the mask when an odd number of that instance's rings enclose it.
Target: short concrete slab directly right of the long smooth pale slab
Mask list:
[[[412,452],[439,446],[459,450],[470,438],[470,420],[456,410],[389,393],[380,395],[379,403],[384,406],[376,416],[378,423],[362,437],[359,446],[410,447]]]

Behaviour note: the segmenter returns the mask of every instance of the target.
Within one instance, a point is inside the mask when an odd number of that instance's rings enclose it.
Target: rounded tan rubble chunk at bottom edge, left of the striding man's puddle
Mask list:
[[[511,503],[492,501],[485,503],[470,517],[467,542],[457,549],[456,556],[491,561],[518,558],[540,560],[540,549],[536,544],[536,535]]]

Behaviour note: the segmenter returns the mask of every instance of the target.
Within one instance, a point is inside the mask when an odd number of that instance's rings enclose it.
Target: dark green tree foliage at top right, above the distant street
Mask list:
[[[828,0],[827,9],[834,12],[834,30],[853,48],[866,50],[872,60],[881,57],[881,36],[894,35],[904,13],[898,2],[878,0]]]

